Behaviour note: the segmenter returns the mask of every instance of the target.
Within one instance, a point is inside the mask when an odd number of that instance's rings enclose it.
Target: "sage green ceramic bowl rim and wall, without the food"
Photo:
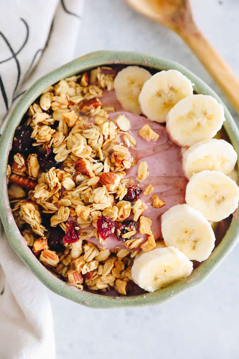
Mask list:
[[[18,126],[24,113],[34,100],[46,89],[62,78],[72,76],[81,71],[90,70],[96,66],[110,64],[135,64],[148,66],[157,70],[175,69],[186,75],[192,83],[197,93],[212,95],[218,102],[223,104],[218,95],[207,86],[196,75],[191,73],[185,67],[176,62],[148,55],[147,53],[124,52],[124,51],[97,51],[88,55],[79,57],[68,64],[59,67],[51,73],[43,76],[35,84],[29,88],[16,104],[8,124],[0,138],[0,216],[3,226],[8,237],[10,246],[21,258],[21,260],[30,268],[37,278],[45,284],[53,292],[62,295],[62,297],[73,300],[74,302],[89,306],[92,308],[117,308],[117,307],[139,307],[156,305],[173,298],[183,290],[200,283],[206,279],[212,271],[221,263],[228,255],[231,249],[238,242],[239,234],[239,218],[233,217],[229,229],[227,230],[223,240],[218,247],[212,252],[210,257],[202,262],[202,264],[192,272],[191,276],[177,281],[175,284],[157,290],[154,293],[140,294],[137,296],[126,297],[109,297],[102,294],[94,294],[78,290],[51,274],[27,247],[25,240],[21,236],[18,227],[15,224],[8,200],[6,186],[6,166],[8,163],[8,155],[11,149],[11,143],[16,126]],[[230,137],[231,143],[239,155],[239,131],[231,117],[228,109],[224,106],[225,118],[224,128]]]

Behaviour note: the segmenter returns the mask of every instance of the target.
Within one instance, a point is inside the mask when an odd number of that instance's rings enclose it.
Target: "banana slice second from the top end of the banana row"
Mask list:
[[[165,122],[168,111],[182,98],[192,94],[192,83],[181,72],[161,71],[145,82],[139,94],[139,103],[150,120]]]

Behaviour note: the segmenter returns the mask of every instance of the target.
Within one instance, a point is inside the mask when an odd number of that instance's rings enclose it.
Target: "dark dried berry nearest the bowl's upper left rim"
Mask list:
[[[32,150],[34,139],[31,138],[32,127],[21,125],[16,127],[13,139],[13,150],[20,153],[28,153]]]

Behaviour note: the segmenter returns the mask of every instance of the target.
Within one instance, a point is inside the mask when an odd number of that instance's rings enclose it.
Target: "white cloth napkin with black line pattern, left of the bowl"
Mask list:
[[[0,124],[40,76],[72,60],[83,0],[0,1]],[[54,359],[47,289],[0,236],[0,358]]]

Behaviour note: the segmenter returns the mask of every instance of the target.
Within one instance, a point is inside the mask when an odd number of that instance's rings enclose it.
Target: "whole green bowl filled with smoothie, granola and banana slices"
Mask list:
[[[219,97],[175,62],[76,59],[23,95],[1,136],[8,241],[75,302],[162,303],[238,241],[238,139]]]

